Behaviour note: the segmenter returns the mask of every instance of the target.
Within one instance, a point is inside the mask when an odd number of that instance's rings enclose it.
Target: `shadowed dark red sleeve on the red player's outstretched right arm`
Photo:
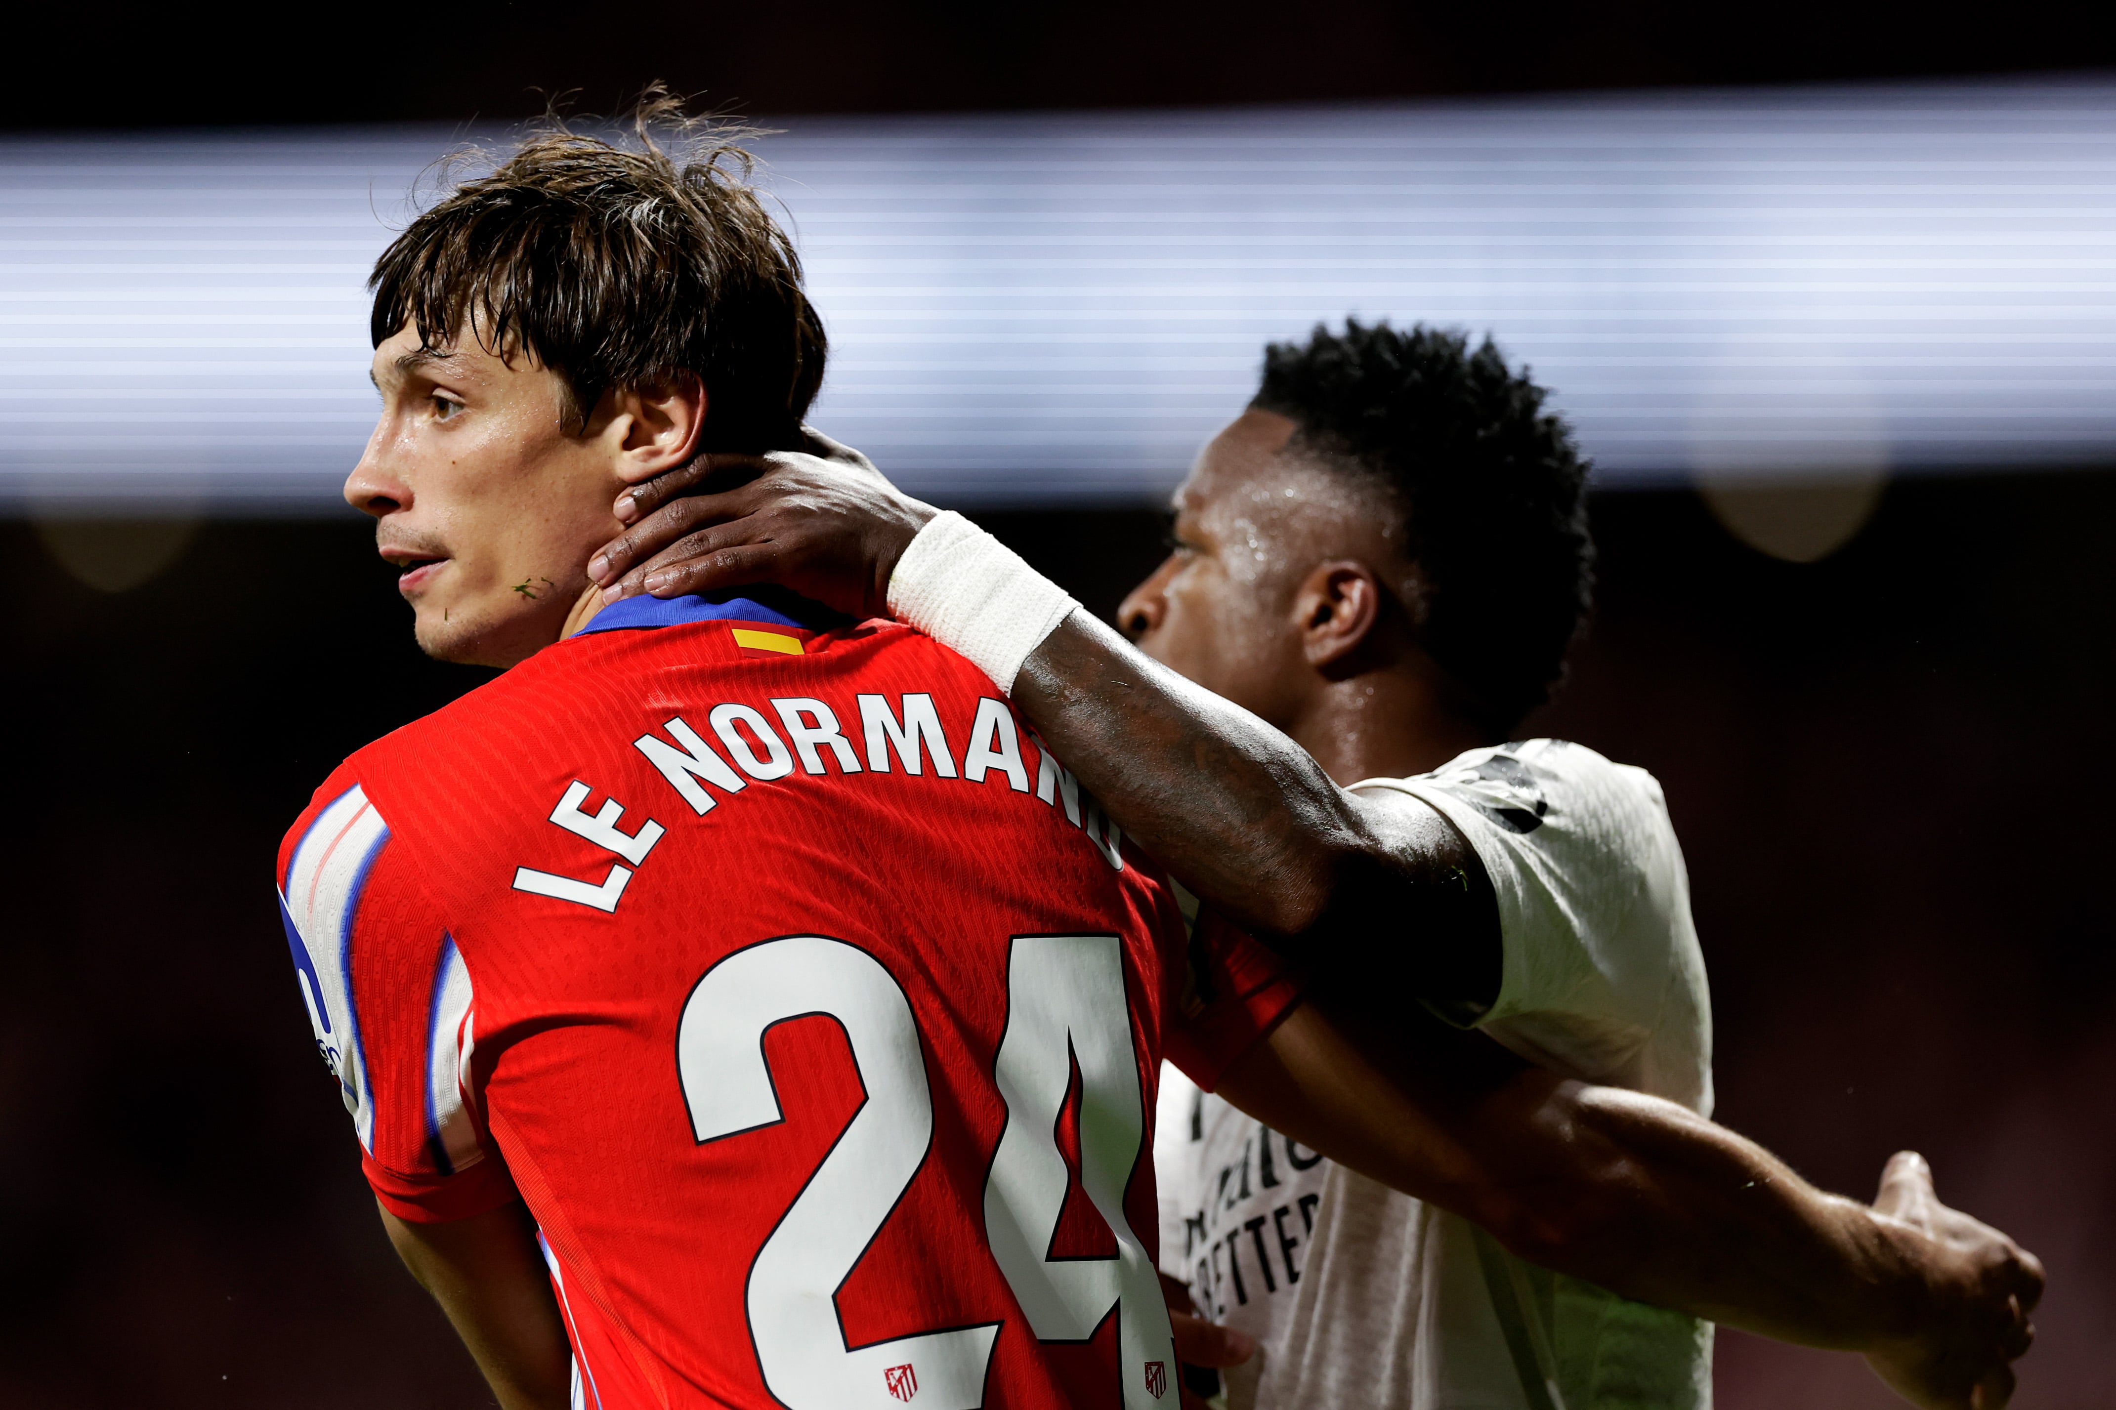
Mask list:
[[[1238,930],[1181,886],[1189,928],[1176,1021],[1162,1038],[1164,1057],[1204,1091],[1236,1057],[1263,1038],[1301,998],[1301,977],[1276,951]]]

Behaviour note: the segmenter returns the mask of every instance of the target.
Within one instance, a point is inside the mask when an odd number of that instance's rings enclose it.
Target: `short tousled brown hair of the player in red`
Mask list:
[[[696,372],[707,444],[800,444],[827,342],[751,184],[749,133],[652,91],[633,131],[637,148],[552,123],[413,220],[368,277],[375,345],[406,323],[427,349],[470,330],[557,372],[582,427],[612,387]]]

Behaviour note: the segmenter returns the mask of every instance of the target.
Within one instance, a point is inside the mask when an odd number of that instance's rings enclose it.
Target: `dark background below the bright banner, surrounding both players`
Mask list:
[[[1600,609],[1534,727],[1653,769],[1684,839],[1720,1116],[1871,1194],[1940,1190],[2050,1264],[2021,1406],[2108,1402],[2116,476],[1898,482],[1794,567],[1684,493],[1595,499]],[[1143,512],[982,516],[1094,609]],[[364,522],[209,524],[121,596],[0,526],[0,1404],[474,1406],[315,1061],[273,856],[349,750],[472,687]],[[1725,1410],[1892,1404],[1725,1334]]]

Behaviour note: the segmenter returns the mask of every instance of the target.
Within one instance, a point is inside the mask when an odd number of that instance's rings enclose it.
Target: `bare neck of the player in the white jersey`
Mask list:
[[[1445,704],[1445,685],[1411,668],[1322,681],[1287,734],[1339,784],[1428,774],[1492,744]]]

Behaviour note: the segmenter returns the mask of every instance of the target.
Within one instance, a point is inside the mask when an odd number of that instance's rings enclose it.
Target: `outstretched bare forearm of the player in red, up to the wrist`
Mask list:
[[[1536,1068],[1464,1080],[1466,1042],[1443,1063],[1375,1057],[1390,1046],[1303,1006],[1221,1095],[1521,1258],[1640,1302],[1860,1351],[1921,1328],[1940,1249],[1733,1131]]]

